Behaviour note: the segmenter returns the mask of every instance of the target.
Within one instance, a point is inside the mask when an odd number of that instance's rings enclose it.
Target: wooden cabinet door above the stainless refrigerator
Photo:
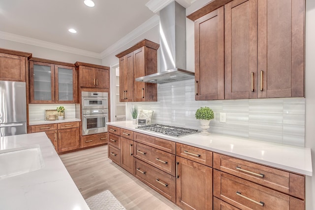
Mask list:
[[[0,53],[0,80],[25,82],[26,58]]]

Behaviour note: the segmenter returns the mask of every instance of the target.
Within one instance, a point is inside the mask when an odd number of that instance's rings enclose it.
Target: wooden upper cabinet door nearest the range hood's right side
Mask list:
[[[224,99],[223,7],[195,21],[195,99]]]

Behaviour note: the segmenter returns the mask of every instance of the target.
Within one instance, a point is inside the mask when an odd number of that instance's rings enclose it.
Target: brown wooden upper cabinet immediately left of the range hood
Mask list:
[[[157,50],[159,45],[142,40],[124,52],[119,58],[120,101],[157,101],[157,84],[135,82],[138,77],[158,72]]]

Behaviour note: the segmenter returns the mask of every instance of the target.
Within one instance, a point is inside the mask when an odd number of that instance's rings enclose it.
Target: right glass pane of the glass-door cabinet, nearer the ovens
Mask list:
[[[73,100],[73,73],[72,69],[58,67],[58,100]]]

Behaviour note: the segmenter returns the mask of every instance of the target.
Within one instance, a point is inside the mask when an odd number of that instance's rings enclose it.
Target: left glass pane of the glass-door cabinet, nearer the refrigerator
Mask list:
[[[34,64],[34,100],[52,100],[51,67]]]

